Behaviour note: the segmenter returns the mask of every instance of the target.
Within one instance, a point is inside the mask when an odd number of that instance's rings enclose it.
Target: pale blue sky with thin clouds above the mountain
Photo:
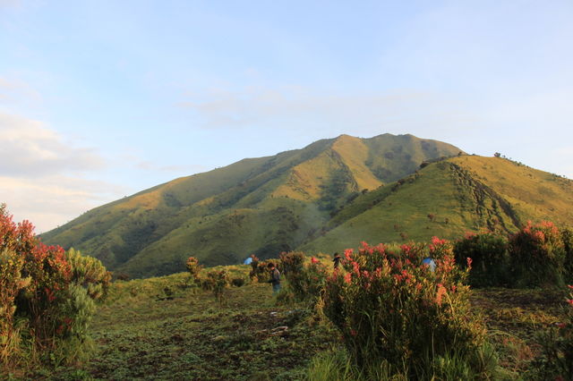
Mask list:
[[[573,178],[571,20],[571,0],[0,0],[0,202],[42,233],[343,133]]]

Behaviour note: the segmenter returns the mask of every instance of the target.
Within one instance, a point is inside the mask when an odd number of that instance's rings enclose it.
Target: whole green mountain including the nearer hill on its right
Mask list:
[[[175,179],[74,219],[43,241],[133,277],[360,241],[506,233],[528,219],[573,222],[573,185],[501,157],[412,135],[341,135]]]

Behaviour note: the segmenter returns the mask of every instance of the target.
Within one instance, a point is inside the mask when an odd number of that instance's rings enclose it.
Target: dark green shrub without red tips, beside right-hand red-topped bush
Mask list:
[[[454,244],[456,262],[466,267],[472,258],[469,284],[474,287],[502,286],[509,283],[508,240],[495,233],[466,233]]]

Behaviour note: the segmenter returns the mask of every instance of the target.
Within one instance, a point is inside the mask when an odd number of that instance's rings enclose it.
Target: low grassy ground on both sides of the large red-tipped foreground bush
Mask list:
[[[231,277],[248,267],[227,267]],[[44,379],[299,380],[310,360],[341,348],[338,332],[303,305],[277,305],[269,284],[210,292],[187,274],[116,282],[92,325],[94,351],[77,368],[30,373]],[[541,350],[536,334],[562,318],[563,292],[475,290],[507,379],[523,379]],[[285,328],[287,327],[287,328]]]

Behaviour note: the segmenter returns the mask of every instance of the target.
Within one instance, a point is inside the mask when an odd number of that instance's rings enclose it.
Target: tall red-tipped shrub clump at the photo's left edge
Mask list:
[[[30,353],[58,350],[71,360],[87,338],[87,327],[110,274],[95,258],[47,246],[28,221],[14,224],[0,207],[0,360],[9,369],[23,353],[17,343],[27,334]],[[14,327],[18,319],[19,332]],[[73,347],[73,348],[72,348]],[[66,350],[69,349],[70,351]],[[52,356],[52,360],[54,357]],[[64,360],[64,359],[62,359]]]

